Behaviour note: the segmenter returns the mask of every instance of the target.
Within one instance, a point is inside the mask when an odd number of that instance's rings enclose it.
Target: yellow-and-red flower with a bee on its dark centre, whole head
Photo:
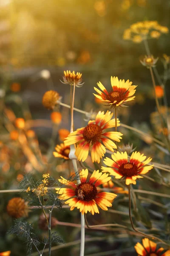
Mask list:
[[[94,170],[88,181],[88,169],[82,169],[79,176],[79,184],[65,180],[63,177],[59,179],[60,183],[70,187],[56,188],[59,199],[65,200],[65,204],[71,206],[71,210],[77,208],[82,214],[87,212],[91,212],[92,215],[94,215],[95,212],[99,213],[97,206],[107,211],[108,207],[112,206],[110,201],[113,201],[117,195],[109,192],[98,192],[96,187],[108,182],[111,180],[111,177],[108,177],[108,174],[102,174],[99,170]]]

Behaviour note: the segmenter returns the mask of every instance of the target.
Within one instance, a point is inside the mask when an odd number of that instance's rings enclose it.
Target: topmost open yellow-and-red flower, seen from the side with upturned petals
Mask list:
[[[111,76],[111,90],[107,91],[101,82],[97,83],[100,90],[94,87],[94,90],[99,94],[94,94],[98,99],[104,102],[111,108],[116,108],[118,106],[123,107],[124,104],[130,100],[133,100],[135,96],[135,88],[137,85],[131,85],[132,82],[127,80],[119,80],[118,77]]]

